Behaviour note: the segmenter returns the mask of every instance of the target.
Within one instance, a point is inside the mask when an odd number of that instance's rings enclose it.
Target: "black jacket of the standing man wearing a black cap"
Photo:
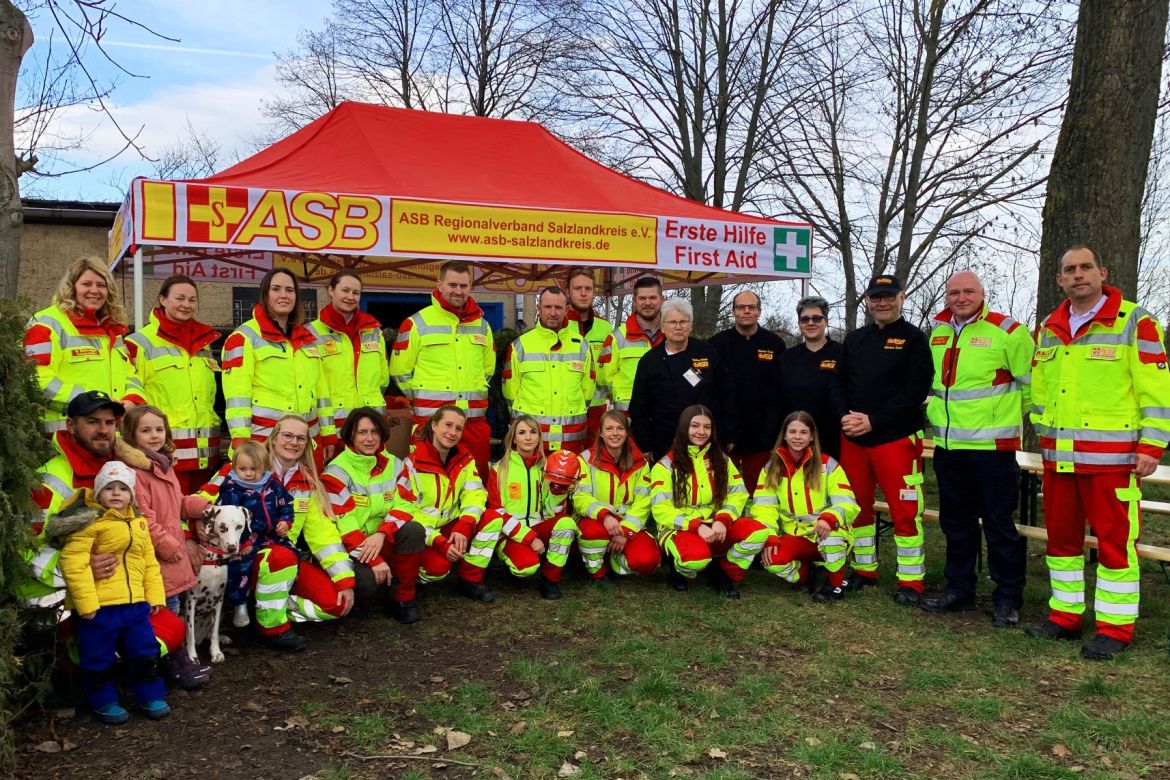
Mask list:
[[[921,330],[897,319],[886,327],[859,327],[845,337],[833,373],[833,410],[869,415],[873,430],[853,439],[862,447],[885,444],[925,427],[922,405],[935,368]]]

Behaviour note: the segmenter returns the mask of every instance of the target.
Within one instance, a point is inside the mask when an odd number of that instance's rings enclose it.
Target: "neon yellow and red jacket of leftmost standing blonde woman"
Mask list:
[[[48,408],[41,430],[66,428],[66,407],[88,391],[118,401],[145,403],[142,381],[130,363],[126,329],[92,312],[67,312],[53,305],[33,315],[25,331],[25,354],[36,364],[36,384]]]

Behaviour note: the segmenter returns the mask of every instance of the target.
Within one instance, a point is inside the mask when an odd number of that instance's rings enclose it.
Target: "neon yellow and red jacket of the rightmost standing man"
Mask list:
[[[1106,302],[1076,333],[1069,303],[1040,325],[1032,365],[1032,422],[1045,468],[1129,471],[1170,441],[1170,372],[1162,326],[1104,285]]]

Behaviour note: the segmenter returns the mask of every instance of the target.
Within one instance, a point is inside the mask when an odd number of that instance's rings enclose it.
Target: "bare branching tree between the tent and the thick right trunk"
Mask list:
[[[1059,0],[851,4],[791,63],[806,99],[771,117],[770,180],[780,209],[814,226],[821,258],[839,258],[848,329],[870,275],[934,291],[959,264],[1034,248],[1064,13]]]

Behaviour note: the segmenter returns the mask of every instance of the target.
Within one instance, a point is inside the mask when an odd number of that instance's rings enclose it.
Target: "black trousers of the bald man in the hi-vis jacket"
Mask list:
[[[1019,467],[1016,453],[935,448],[938,524],[947,536],[947,592],[975,598],[975,562],[979,555],[979,519],[987,538],[987,573],[996,584],[997,607],[1019,609],[1024,602],[1027,540],[1016,530]]]

